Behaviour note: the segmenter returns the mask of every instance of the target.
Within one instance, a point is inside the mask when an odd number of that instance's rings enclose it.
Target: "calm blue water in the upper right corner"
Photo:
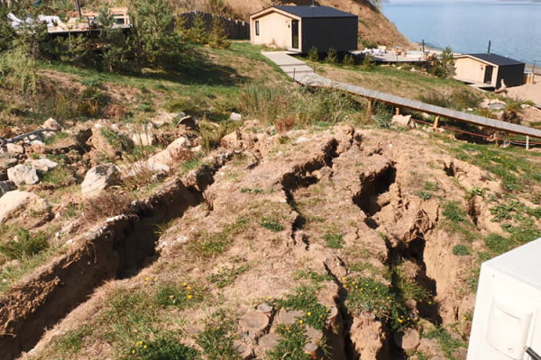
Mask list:
[[[540,3],[388,3],[383,14],[409,40],[455,52],[491,52],[541,64]]]

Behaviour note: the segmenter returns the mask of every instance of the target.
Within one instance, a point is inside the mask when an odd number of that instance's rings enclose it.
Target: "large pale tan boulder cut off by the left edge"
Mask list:
[[[13,219],[25,210],[43,213],[50,210],[50,205],[35,193],[19,190],[7,192],[0,197],[0,223]]]

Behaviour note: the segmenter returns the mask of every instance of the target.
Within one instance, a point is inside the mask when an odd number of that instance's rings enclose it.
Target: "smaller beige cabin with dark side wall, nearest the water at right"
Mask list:
[[[454,58],[454,78],[493,88],[518,86],[524,84],[524,67],[523,62],[497,54],[464,54]]]

